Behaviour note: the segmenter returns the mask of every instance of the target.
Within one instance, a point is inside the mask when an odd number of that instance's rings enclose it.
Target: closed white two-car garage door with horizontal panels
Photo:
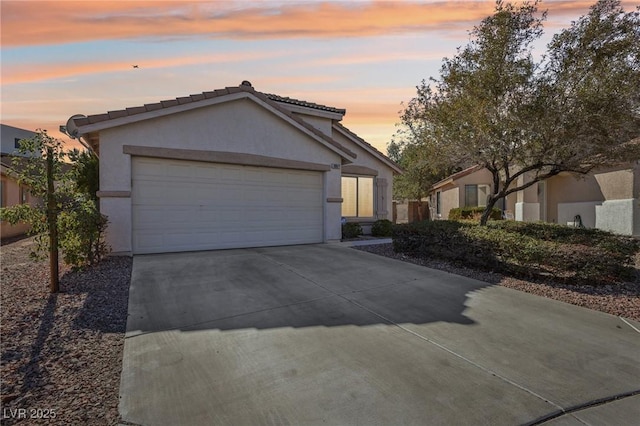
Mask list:
[[[323,241],[322,173],[133,157],[133,251]]]

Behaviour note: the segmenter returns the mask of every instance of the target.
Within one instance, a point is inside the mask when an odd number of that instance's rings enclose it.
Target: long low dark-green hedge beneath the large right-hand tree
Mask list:
[[[635,273],[633,256],[640,248],[628,237],[558,225],[504,223],[479,226],[434,221],[397,225],[393,247],[417,257],[440,258],[516,276],[553,276],[568,283],[611,283],[630,279]],[[593,236],[593,245],[586,244],[588,236]]]

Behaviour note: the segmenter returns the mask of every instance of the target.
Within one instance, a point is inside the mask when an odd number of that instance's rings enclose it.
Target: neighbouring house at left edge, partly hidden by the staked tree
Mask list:
[[[18,152],[20,140],[29,139],[35,133],[30,130],[2,124],[0,127],[1,150],[0,153],[0,207],[11,207],[18,204],[32,204],[36,199],[29,193],[29,188],[18,183],[15,177],[15,167],[12,159],[21,155]],[[11,238],[25,234],[29,225],[19,223],[11,225],[7,222],[0,223],[0,238]]]

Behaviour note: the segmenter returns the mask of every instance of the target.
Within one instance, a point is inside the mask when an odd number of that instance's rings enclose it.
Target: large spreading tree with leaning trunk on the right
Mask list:
[[[600,0],[536,62],[546,19],[537,4],[498,1],[402,114],[438,162],[491,172],[482,224],[500,199],[539,181],[640,158],[629,142],[640,135],[640,12]]]

